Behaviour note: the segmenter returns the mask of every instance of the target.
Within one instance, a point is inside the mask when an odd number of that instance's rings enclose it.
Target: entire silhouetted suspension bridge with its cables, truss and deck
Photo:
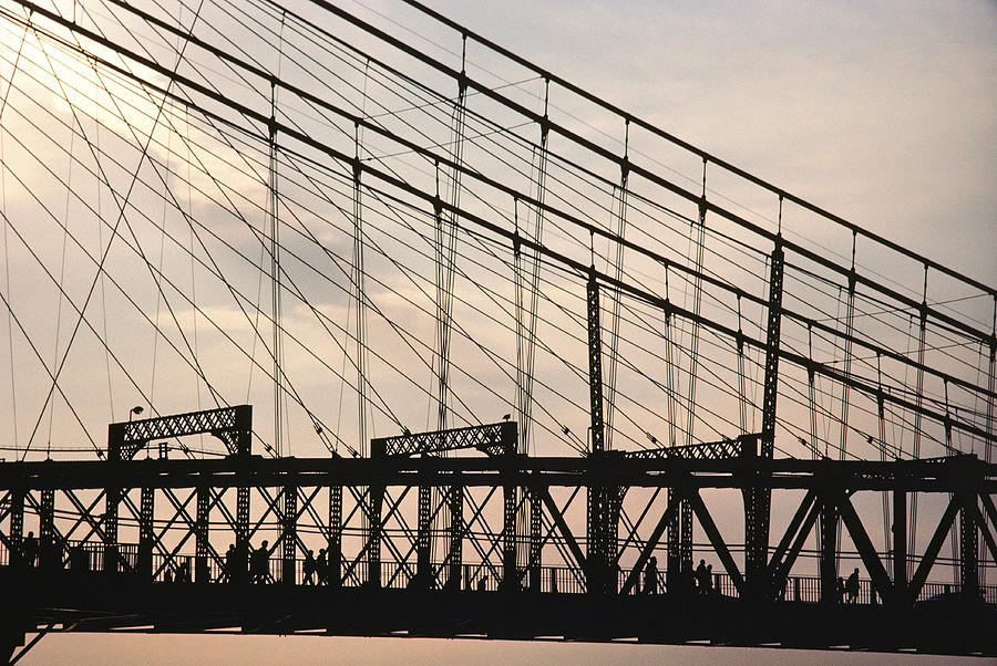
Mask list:
[[[997,654],[997,287],[392,11],[0,4],[2,655]]]

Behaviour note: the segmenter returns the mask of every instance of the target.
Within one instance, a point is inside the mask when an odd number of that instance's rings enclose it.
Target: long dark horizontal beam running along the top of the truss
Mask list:
[[[759,474],[759,472],[764,472]],[[226,458],[215,460],[76,460],[0,462],[0,490],[228,488],[314,486],[826,488],[972,491],[997,495],[997,464],[975,456],[865,461],[759,458],[738,460],[512,456],[451,458]]]

